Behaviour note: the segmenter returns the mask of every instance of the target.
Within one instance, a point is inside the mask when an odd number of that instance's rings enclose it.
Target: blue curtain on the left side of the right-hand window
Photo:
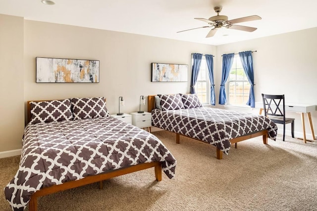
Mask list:
[[[233,58],[234,58],[234,53],[228,53],[228,54],[222,55],[222,74],[221,74],[221,84],[220,84],[220,93],[219,93],[220,105],[224,105],[227,102],[225,84],[230,74]]]

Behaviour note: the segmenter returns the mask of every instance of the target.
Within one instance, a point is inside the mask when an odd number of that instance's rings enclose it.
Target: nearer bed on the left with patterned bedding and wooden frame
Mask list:
[[[153,134],[106,110],[104,97],[29,101],[19,169],[4,188],[12,210],[58,191],[154,167],[175,177],[176,160]]]

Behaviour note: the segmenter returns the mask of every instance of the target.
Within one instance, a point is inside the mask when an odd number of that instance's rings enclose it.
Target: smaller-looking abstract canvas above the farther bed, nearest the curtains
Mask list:
[[[187,64],[152,63],[152,82],[187,82]]]

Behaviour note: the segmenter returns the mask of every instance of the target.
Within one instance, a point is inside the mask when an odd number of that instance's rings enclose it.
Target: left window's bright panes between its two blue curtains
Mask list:
[[[195,84],[195,92],[198,95],[202,104],[210,104],[210,81],[209,71],[205,56],[202,58],[200,65],[200,71],[197,76],[197,82]]]

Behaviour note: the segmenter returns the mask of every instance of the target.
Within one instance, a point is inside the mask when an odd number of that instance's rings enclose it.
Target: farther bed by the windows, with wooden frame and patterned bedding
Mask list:
[[[228,155],[231,144],[257,136],[276,139],[277,126],[262,115],[204,107],[197,94],[149,95],[152,126],[216,146],[216,158]]]

